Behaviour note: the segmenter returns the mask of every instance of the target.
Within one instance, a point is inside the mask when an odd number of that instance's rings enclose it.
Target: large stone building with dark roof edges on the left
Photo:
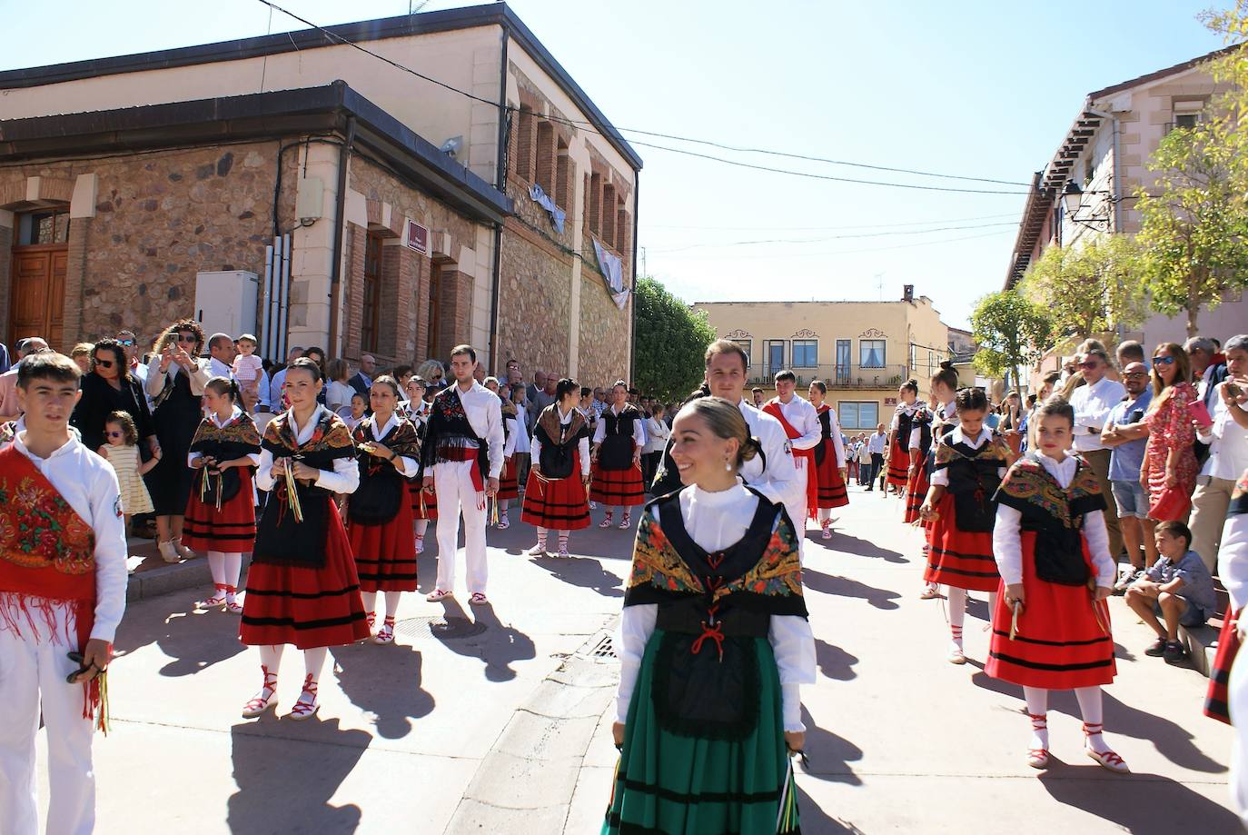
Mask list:
[[[11,70],[0,91],[10,343],[195,316],[273,358],[470,342],[490,369],[630,368],[641,161],[505,4]]]

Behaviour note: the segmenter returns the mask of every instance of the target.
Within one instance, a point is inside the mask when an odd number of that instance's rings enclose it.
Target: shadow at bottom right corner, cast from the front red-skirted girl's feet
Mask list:
[[[1091,763],[1091,760],[1088,760]],[[1058,803],[1103,818],[1127,833],[1238,833],[1229,809],[1156,774],[1108,775],[1099,765],[1067,765],[1041,775]],[[1226,786],[1218,786],[1226,791]]]

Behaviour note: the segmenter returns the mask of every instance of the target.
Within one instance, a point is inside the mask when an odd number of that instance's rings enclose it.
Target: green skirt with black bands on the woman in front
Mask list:
[[[771,644],[751,639],[761,684],[753,733],[739,740],[705,739],[674,734],[655,714],[650,694],[663,635],[654,632],[641,658],[603,835],[800,833]]]

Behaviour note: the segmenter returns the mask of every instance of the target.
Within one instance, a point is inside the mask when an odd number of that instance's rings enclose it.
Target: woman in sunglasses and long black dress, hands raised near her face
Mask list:
[[[182,522],[195,481],[193,471],[186,466],[187,456],[203,417],[203,388],[212,377],[207,361],[200,359],[202,349],[203,331],[198,323],[181,320],[156,337],[147,366],[147,396],[156,404],[152,424],[163,454],[146,481],[156,505],[156,547],[168,562],[195,557],[182,544]]]

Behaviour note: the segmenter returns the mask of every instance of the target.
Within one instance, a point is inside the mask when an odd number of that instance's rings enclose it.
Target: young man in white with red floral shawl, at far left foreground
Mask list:
[[[0,830],[39,831],[35,735],[41,718],[51,753],[46,831],[90,833],[91,741],[102,710],[102,683],[95,679],[109,667],[126,610],[121,499],[112,467],[69,428],[81,397],[77,366],[47,352],[19,371],[26,428],[0,452],[0,483],[9,493],[21,482],[35,507],[50,509],[25,515],[12,502],[0,507],[9,548],[21,557],[0,558]]]

